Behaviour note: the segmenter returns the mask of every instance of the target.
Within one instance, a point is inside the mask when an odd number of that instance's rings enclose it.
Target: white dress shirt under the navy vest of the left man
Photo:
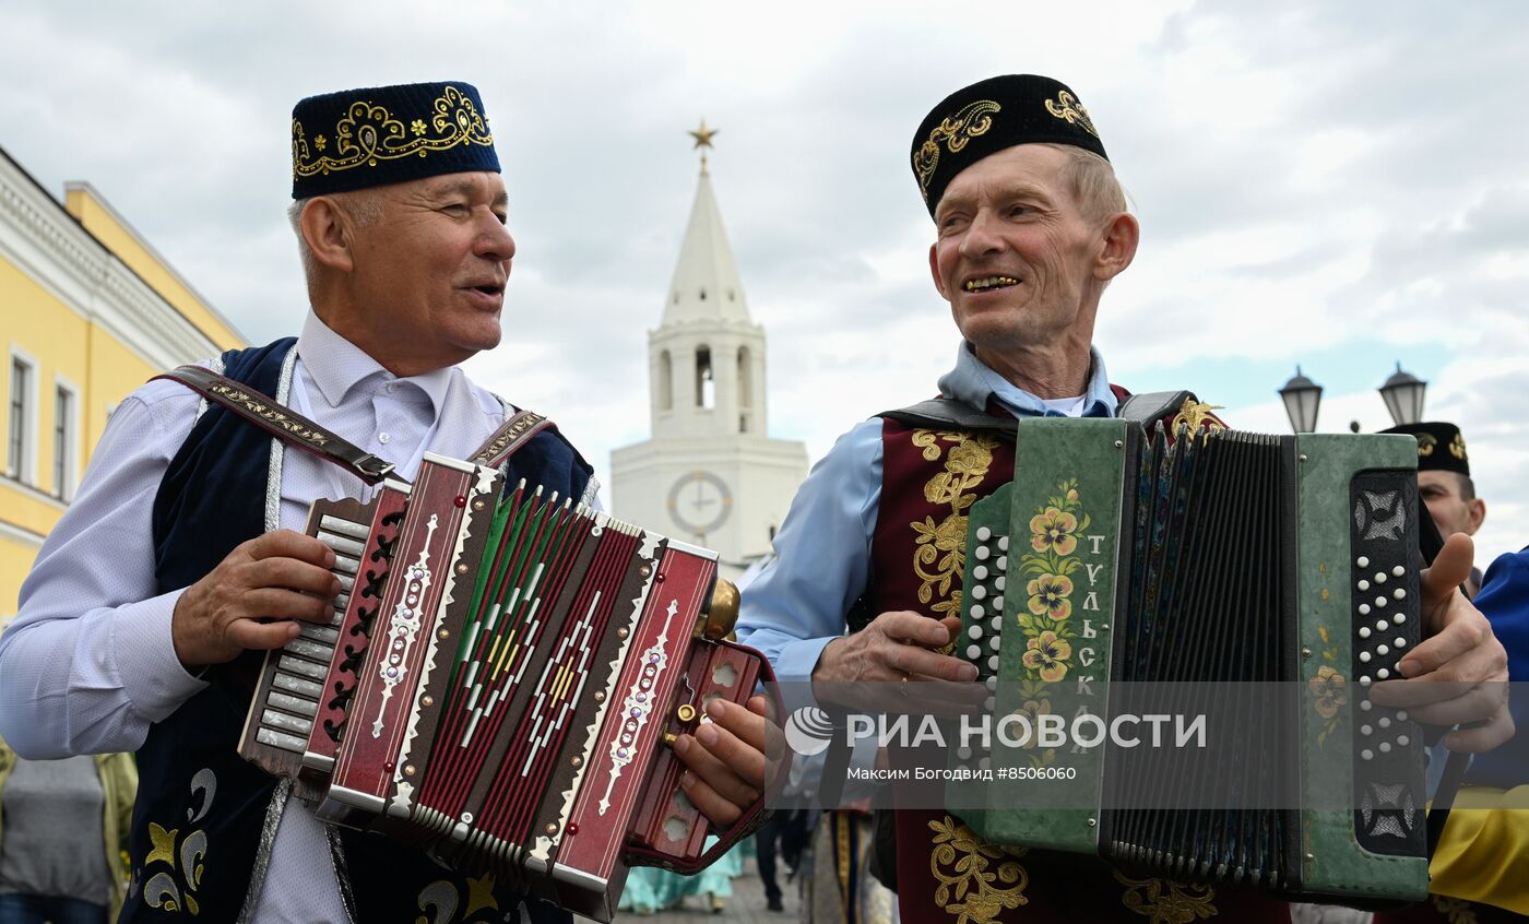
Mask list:
[[[414,477],[427,448],[469,456],[503,421],[500,401],[460,369],[398,378],[312,312],[297,352],[287,404],[402,477]],[[180,591],[156,592],[151,540],[159,482],[199,404],[185,386],[153,381],[118,405],[21,586],[20,612],[0,638],[0,736],[23,757],[136,751],[151,724],[206,687],[176,658],[170,624]],[[283,528],[301,532],[317,499],[368,496],[339,467],[284,453]],[[281,815],[255,919],[347,919],[323,825],[300,800]]]

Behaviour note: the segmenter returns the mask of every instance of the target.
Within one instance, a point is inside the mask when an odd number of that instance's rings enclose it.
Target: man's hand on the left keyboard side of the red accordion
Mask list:
[[[295,620],[329,623],[339,578],[335,552],[310,535],[278,529],[237,546],[176,601],[171,638],[187,667],[232,661],[246,649],[280,649]]]

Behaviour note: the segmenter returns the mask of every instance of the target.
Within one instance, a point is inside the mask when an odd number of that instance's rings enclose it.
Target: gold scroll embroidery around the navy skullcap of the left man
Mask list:
[[[457,87],[446,87],[436,98],[433,109],[428,127],[425,119],[414,119],[411,125],[405,125],[385,107],[358,99],[335,124],[335,156],[320,153],[317,158],[307,150],[303,122],[292,119],[292,176],[306,177],[355,167],[376,167],[378,161],[424,158],[430,151],[450,150],[459,144],[483,147],[494,144],[488,119]],[[326,138],[317,136],[313,147],[323,151],[327,147]]]

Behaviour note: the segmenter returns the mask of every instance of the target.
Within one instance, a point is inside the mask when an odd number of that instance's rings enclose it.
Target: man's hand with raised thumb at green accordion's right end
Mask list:
[[[1514,736],[1508,652],[1492,624],[1460,594],[1471,574],[1471,537],[1457,532],[1422,574],[1423,641],[1399,662],[1405,681],[1376,684],[1378,705],[1428,725],[1479,724],[1445,736],[1453,751],[1491,751]]]

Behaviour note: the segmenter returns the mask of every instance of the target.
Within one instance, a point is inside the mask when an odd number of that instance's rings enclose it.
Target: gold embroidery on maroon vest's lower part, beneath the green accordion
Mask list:
[[[1031,877],[1015,858],[1026,848],[989,844],[956,818],[930,822],[934,832],[930,872],[939,883],[934,904],[956,915],[956,924],[989,924],[1005,909],[1029,904]],[[997,861],[995,869],[994,861]]]

